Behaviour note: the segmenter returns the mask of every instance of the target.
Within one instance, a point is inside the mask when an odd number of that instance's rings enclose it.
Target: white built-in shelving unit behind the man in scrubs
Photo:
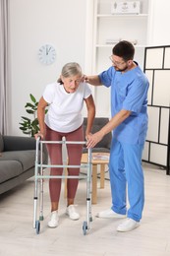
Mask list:
[[[129,1],[129,0],[128,0]],[[136,41],[135,60],[143,69],[144,47],[148,43],[149,9],[152,0],[141,0],[140,14],[112,14],[113,0],[93,0],[93,56],[92,74],[111,66],[109,56],[121,39]],[[106,43],[112,40],[112,43]],[[99,87],[94,90],[96,115],[110,116],[110,91]],[[104,104],[103,104],[104,102]]]

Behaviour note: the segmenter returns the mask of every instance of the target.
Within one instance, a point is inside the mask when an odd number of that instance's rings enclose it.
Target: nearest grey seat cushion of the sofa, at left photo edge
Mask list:
[[[23,172],[22,163],[18,160],[0,160],[0,183],[19,176]]]

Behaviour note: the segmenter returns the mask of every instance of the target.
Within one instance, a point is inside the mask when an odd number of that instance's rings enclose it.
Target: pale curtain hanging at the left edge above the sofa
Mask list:
[[[0,0],[0,133],[10,130],[8,0]]]

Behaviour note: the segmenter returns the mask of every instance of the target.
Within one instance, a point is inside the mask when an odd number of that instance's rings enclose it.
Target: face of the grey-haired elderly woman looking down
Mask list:
[[[61,80],[63,82],[64,89],[68,94],[73,94],[77,91],[80,83],[81,83],[82,76],[72,76],[69,78],[64,78],[61,76]]]

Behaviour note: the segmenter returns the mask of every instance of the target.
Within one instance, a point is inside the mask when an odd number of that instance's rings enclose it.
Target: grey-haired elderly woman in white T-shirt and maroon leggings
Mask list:
[[[61,141],[63,137],[67,141],[84,141],[90,133],[95,115],[95,106],[91,91],[83,81],[83,73],[80,65],[75,62],[67,63],[61,72],[57,82],[46,86],[41,96],[37,116],[40,131],[35,135],[46,141]],[[87,108],[87,126],[84,136],[82,110],[84,101]],[[45,115],[45,108],[48,106]],[[62,145],[47,144],[47,150],[51,164],[62,164]],[[67,144],[68,161],[71,165],[80,165],[83,145]],[[52,167],[50,175],[62,175],[63,168]],[[79,175],[80,168],[69,168],[68,175]],[[74,200],[78,188],[79,179],[68,179],[68,198],[66,214],[71,220],[79,220],[80,215],[74,207]],[[49,179],[49,191],[51,199],[51,219],[49,227],[56,227],[59,222],[58,207],[61,191],[61,178]]]

